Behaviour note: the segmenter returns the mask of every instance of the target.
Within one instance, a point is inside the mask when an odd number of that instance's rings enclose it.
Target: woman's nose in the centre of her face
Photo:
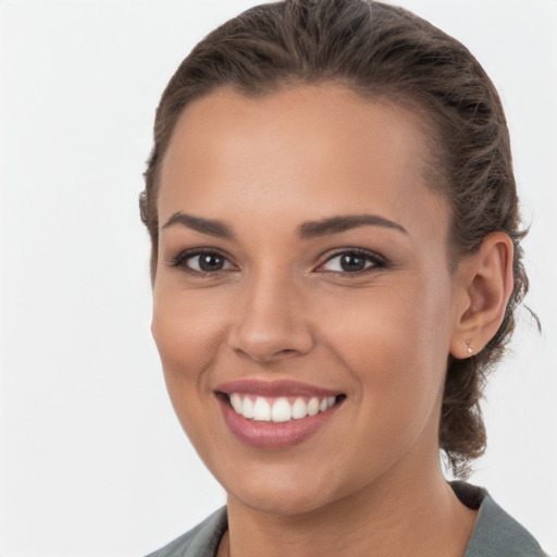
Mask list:
[[[235,305],[231,348],[258,363],[275,363],[307,354],[313,347],[313,335],[305,306],[293,281],[277,276],[251,281]]]

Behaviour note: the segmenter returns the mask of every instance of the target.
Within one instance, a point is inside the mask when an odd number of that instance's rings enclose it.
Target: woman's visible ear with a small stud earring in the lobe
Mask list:
[[[478,354],[499,329],[512,293],[512,240],[503,232],[494,232],[458,265],[456,322],[450,339],[455,358]]]

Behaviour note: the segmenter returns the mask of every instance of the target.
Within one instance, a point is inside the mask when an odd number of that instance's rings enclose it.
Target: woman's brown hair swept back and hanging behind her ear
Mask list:
[[[293,83],[339,83],[368,98],[386,98],[425,114],[432,133],[431,186],[453,212],[449,262],[479,248],[495,231],[515,244],[515,287],[503,323],[471,358],[449,356],[440,447],[456,475],[485,450],[480,399],[485,376],[515,329],[528,290],[521,261],[518,198],[502,103],[492,82],[460,42],[412,13],[371,0],[286,0],[247,10],[209,34],[164,90],[154,146],[140,195],[151,236],[154,281],[161,162],[176,121],[193,99],[216,87],[264,95]]]

